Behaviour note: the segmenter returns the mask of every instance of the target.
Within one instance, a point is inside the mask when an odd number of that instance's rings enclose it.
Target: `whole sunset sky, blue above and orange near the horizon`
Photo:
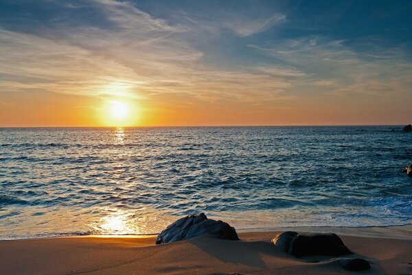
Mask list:
[[[0,126],[409,124],[411,14],[407,0],[1,0]]]

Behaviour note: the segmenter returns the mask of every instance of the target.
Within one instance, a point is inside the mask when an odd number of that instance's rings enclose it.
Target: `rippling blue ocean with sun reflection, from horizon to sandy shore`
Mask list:
[[[395,129],[396,131],[391,131]],[[0,129],[0,240],[412,221],[401,126]]]

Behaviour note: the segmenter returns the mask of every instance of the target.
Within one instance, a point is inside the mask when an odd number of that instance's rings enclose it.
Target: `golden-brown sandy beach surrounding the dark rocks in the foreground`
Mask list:
[[[371,270],[349,272],[328,257],[297,259],[275,248],[270,240],[279,231],[271,231],[163,245],[155,245],[156,236],[1,241],[0,274],[412,274],[411,225],[306,231],[336,232],[355,253],[350,257],[367,259]]]

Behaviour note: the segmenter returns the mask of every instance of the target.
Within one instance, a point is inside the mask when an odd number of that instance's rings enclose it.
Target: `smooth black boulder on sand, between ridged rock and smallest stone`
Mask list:
[[[352,254],[334,233],[298,234],[287,231],[275,236],[273,243],[280,250],[297,258],[301,256],[340,256]]]

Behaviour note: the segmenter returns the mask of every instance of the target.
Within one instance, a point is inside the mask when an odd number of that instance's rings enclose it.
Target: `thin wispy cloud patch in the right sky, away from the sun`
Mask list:
[[[284,65],[296,68],[297,74],[306,76],[293,80],[295,87],[324,87],[334,95],[383,96],[394,92],[394,87],[397,91],[407,91],[412,84],[409,78],[412,65],[405,60],[405,49],[380,47],[373,40],[343,41],[306,36],[248,47],[282,61]]]

